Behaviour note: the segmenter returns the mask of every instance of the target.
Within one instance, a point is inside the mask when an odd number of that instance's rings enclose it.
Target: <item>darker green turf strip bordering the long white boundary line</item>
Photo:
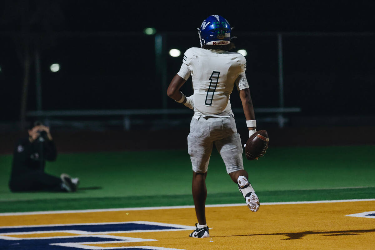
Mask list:
[[[257,192],[261,202],[322,201],[346,199],[374,199],[375,187],[355,189],[287,190]],[[27,205],[25,205],[27,203]],[[233,204],[245,201],[239,192],[213,193],[206,204]],[[99,208],[130,208],[193,205],[191,195],[152,195],[109,198],[42,199],[32,201],[3,201],[0,212],[26,212],[50,210],[80,210]]]

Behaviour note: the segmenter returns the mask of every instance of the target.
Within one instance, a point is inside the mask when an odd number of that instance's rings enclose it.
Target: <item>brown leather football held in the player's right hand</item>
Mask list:
[[[255,160],[266,153],[268,148],[268,133],[266,130],[259,130],[251,135],[246,141],[246,158],[248,160]]]

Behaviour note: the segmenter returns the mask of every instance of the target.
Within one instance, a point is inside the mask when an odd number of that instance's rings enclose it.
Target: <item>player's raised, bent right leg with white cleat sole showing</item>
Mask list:
[[[216,140],[215,145],[225,163],[227,173],[237,183],[249,209],[256,212],[259,209],[260,203],[258,196],[248,181],[248,172],[243,169],[241,138],[235,126],[236,123],[233,117],[223,119],[223,130],[235,131],[236,133]],[[226,133],[224,132],[223,134]]]

